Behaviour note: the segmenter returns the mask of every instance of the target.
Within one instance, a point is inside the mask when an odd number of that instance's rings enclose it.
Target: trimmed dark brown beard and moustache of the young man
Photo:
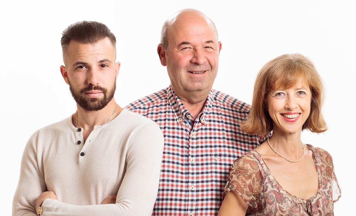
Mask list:
[[[69,80],[68,80],[69,82]],[[115,90],[116,90],[116,81],[114,82],[114,85],[108,92],[106,88],[100,87],[100,86],[88,86],[86,88],[83,88],[80,91],[74,90],[73,86],[70,85],[69,82],[69,90],[70,93],[72,93],[72,96],[79,104],[80,107],[82,107],[85,110],[88,111],[97,111],[100,109],[103,109],[108,103],[111,101],[111,99],[114,97]],[[103,92],[104,97],[103,98],[89,98],[85,96],[85,92],[91,91],[91,90],[99,90]]]

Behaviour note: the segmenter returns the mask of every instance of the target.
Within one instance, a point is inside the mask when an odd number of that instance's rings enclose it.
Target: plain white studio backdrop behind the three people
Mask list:
[[[75,112],[64,83],[61,33],[70,24],[103,22],[117,38],[116,101],[122,106],[169,85],[156,53],[163,22],[184,8],[201,10],[223,44],[213,88],[251,103],[267,61],[301,53],[325,82],[329,130],[302,141],[329,151],[342,196],[335,215],[355,212],[355,5],[352,1],[6,1],[1,3],[1,215],[11,215],[23,148],[30,135]],[[80,184],[80,183],[78,183]]]

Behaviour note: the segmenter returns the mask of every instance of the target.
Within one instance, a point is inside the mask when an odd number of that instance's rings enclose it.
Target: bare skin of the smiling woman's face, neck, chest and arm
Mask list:
[[[292,88],[273,90],[267,96],[268,113],[273,120],[273,135],[269,141],[278,153],[289,160],[298,160],[303,155],[300,134],[310,114],[311,98],[310,88],[303,79]],[[289,123],[281,116],[281,113],[288,112],[300,113],[300,117]],[[312,151],[306,145],[304,149],[305,156],[297,163],[288,162],[278,156],[267,141],[255,150],[262,156],[271,174],[284,190],[299,198],[309,199],[318,190],[318,174]],[[235,191],[230,191],[226,193],[219,215],[245,215],[246,211],[246,202]]]

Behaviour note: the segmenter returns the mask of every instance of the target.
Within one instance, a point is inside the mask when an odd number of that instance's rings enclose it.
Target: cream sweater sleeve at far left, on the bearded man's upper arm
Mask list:
[[[12,202],[13,216],[35,216],[38,196],[47,190],[37,158],[37,135],[34,133],[23,151],[19,184]]]

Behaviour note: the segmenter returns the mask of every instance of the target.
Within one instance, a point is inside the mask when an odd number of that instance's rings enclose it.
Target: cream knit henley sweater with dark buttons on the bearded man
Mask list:
[[[151,215],[163,145],[156,123],[125,109],[95,126],[85,145],[72,117],[37,130],[23,152],[12,215],[35,216],[43,191],[58,197],[43,202],[43,216]],[[116,204],[100,205],[115,194]]]

